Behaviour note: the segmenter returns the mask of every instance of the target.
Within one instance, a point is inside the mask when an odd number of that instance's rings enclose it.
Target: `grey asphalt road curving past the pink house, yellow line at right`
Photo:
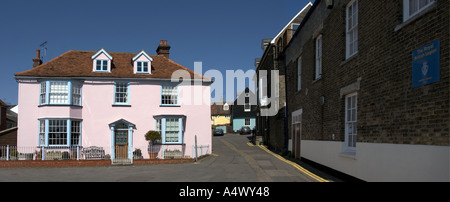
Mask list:
[[[249,143],[251,136],[213,137],[212,155],[197,163],[82,168],[3,168],[0,182],[321,182],[327,173]],[[307,168],[307,169],[305,169]]]

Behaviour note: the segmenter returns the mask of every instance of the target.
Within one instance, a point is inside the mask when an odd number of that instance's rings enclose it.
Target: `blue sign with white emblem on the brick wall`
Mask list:
[[[413,51],[413,88],[438,82],[441,79],[439,52],[439,40],[433,41]]]

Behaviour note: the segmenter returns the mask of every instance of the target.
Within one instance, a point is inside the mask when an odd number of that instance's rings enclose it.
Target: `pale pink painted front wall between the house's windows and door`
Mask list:
[[[148,142],[144,134],[155,130],[155,115],[185,115],[186,128],[184,143],[185,155],[192,156],[192,145],[197,135],[198,145],[209,145],[212,151],[210,119],[210,87],[180,86],[180,91],[205,92],[201,105],[181,105],[180,107],[160,107],[161,84],[156,81],[130,83],[130,106],[113,106],[113,81],[85,81],[82,87],[82,107],[41,106],[39,107],[40,84],[37,82],[19,82],[19,131],[18,146],[37,146],[39,118],[76,118],[82,119],[82,146],[100,146],[107,152],[111,147],[109,124],[125,119],[136,125],[133,131],[133,147],[141,148],[144,157],[148,156]],[[180,93],[180,102],[192,99]],[[193,103],[193,101],[192,101]]]

